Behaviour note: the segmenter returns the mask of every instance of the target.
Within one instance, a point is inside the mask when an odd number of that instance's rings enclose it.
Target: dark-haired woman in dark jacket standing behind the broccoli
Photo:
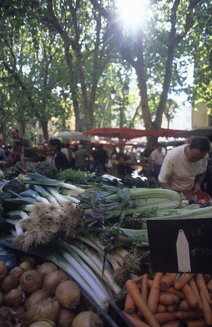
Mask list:
[[[61,146],[61,142],[58,139],[49,141],[49,147],[51,151],[53,151],[52,164],[54,164],[58,170],[67,169],[70,166],[66,155],[61,152]]]

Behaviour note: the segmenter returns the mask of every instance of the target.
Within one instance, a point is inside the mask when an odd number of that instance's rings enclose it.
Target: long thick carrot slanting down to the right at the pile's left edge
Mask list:
[[[137,307],[143,314],[144,318],[147,320],[148,324],[151,327],[160,327],[160,325],[158,324],[157,320],[155,319],[153,313],[151,312],[150,308],[148,307],[146,302],[143,300],[137,285],[133,281],[128,280],[126,282],[126,288],[127,288],[128,292],[130,293],[131,297],[133,298],[134,302],[136,303]]]

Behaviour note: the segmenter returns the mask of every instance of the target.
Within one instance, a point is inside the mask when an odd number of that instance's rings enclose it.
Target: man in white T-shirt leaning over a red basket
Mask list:
[[[193,137],[190,144],[173,148],[167,153],[161,166],[158,176],[160,186],[173,191],[192,188],[194,193],[201,191],[200,185],[206,173],[206,155],[209,151],[210,142],[205,136]]]

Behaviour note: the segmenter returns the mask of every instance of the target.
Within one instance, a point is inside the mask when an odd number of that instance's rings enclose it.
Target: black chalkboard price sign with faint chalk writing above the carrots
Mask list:
[[[212,273],[212,218],[148,219],[147,230],[154,272],[179,272],[176,242],[183,230],[191,273]]]

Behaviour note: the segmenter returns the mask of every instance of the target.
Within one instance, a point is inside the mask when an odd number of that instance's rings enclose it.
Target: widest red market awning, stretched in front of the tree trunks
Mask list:
[[[181,132],[182,130],[176,130],[176,129],[163,129],[160,130],[149,130],[149,129],[131,129],[131,128],[96,128],[87,130],[83,134],[86,135],[98,135],[98,136],[104,136],[104,137],[118,137],[125,140],[131,140],[137,137],[142,136],[165,136],[165,137],[171,137],[175,136],[175,133]]]

